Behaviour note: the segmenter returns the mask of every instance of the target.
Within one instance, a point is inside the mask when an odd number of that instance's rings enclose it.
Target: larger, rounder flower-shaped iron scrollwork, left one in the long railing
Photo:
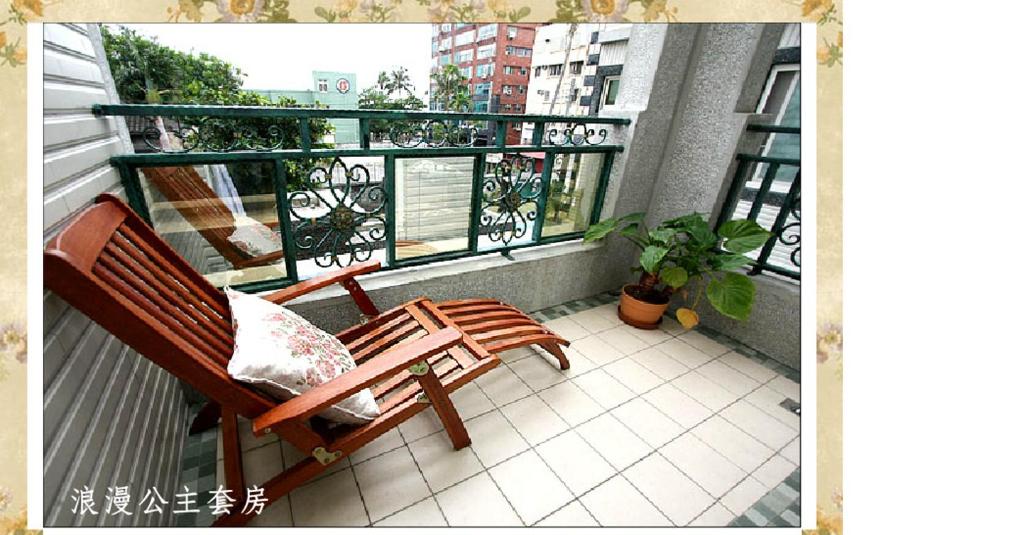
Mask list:
[[[366,166],[348,167],[335,158],[328,168],[314,167],[302,188],[289,194],[290,210],[299,219],[298,256],[305,252],[321,268],[344,268],[369,260],[385,245],[387,193],[371,181]]]

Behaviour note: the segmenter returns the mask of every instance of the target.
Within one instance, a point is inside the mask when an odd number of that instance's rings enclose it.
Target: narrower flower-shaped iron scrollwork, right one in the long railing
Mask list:
[[[537,219],[537,201],[543,191],[543,178],[535,174],[532,160],[515,156],[499,162],[494,176],[483,181],[480,225],[487,238],[509,245],[525,236]]]

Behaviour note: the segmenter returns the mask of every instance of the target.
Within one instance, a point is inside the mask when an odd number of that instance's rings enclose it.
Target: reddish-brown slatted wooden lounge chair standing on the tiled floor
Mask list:
[[[498,301],[434,304],[419,298],[381,313],[354,280],[380,264],[364,263],[264,296],[283,303],[339,283],[368,318],[337,334],[356,361],[354,370],[281,402],[228,375],[233,332],[227,298],[118,198],[101,195],[53,238],[43,265],[50,290],[210,400],[193,430],[221,421],[226,487],[234,496],[245,493],[239,415],[252,420],[252,433],[275,433],[309,455],[262,483],[272,502],[428,405],[453,446],[467,446],[469,436],[449,394],[500,364],[488,346],[539,343],[557,351],[562,367],[568,366],[557,347],[568,342]],[[333,426],[315,416],[366,387],[381,408],[372,422]],[[246,524],[251,515],[241,509],[216,525]]]

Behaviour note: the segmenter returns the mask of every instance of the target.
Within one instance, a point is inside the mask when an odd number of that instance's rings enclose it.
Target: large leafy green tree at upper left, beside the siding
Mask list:
[[[105,26],[100,30],[111,75],[123,102],[299,107],[291,98],[271,101],[258,93],[243,90],[245,73],[219,57],[203,52],[179,52],[127,28],[118,33]],[[242,132],[252,134],[246,137],[246,143],[251,147],[272,147],[280,139],[282,147],[294,148],[299,147],[301,140],[299,124],[294,119],[247,118],[210,120],[208,123],[203,140],[211,147],[228,147]],[[280,136],[271,135],[274,128]],[[310,119],[309,132],[314,148],[331,148],[329,143],[315,141],[333,130],[326,119]],[[286,170],[289,183],[299,183],[304,172],[301,161],[287,161]],[[241,174],[244,173],[240,171],[237,178],[242,179]],[[266,177],[267,180],[271,178]]]

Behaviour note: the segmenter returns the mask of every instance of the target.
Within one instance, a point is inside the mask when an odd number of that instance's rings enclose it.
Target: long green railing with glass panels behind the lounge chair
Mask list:
[[[275,265],[283,270],[280,277],[231,282],[252,291],[370,258],[395,269],[495,252],[509,255],[521,247],[579,239],[600,218],[612,161],[623,151],[612,142],[614,129],[629,124],[628,119],[605,117],[311,108],[100,105],[93,111],[148,118],[148,123],[142,121],[144,127],[136,124],[133,136],[140,152],[111,158],[128,202],[151,224],[153,205],[160,204],[156,209],[164,215],[168,206],[174,207],[180,215],[175,229],[194,229],[190,232],[202,235],[214,249],[226,247],[216,243],[223,242],[226,233],[205,229],[213,225],[207,221],[231,202],[212,198],[215,184],[209,176],[198,183],[195,169],[227,166],[236,180],[242,171],[250,173],[246,166],[271,175],[261,198],[273,206],[276,221],[267,224],[276,227],[283,254]],[[357,122],[358,146],[318,148],[322,145],[310,133],[311,122],[323,119]],[[506,145],[509,125],[517,123],[534,124],[531,138]],[[478,135],[485,125],[495,132],[492,139]],[[383,142],[372,142],[372,137]],[[445,204],[453,215],[443,223],[454,230],[445,231],[450,239],[444,247],[434,248],[431,244],[437,241],[399,236],[399,220],[411,228],[411,217],[430,212],[429,206],[422,206],[429,201],[426,197],[410,200],[418,195],[416,162],[435,166],[443,162],[456,169],[453,176],[463,170],[458,176],[464,180],[457,177],[432,186],[459,193],[450,195]],[[399,166],[401,176],[396,174]],[[190,171],[161,175],[162,189],[155,188],[154,174],[174,167]],[[197,191],[212,199],[195,197]],[[398,201],[404,204],[399,206]],[[409,207],[414,204],[419,211],[411,214]],[[185,219],[188,224],[182,222]],[[425,232],[429,234],[429,229]],[[414,249],[415,253],[409,252]],[[232,268],[251,265],[243,259]]]

